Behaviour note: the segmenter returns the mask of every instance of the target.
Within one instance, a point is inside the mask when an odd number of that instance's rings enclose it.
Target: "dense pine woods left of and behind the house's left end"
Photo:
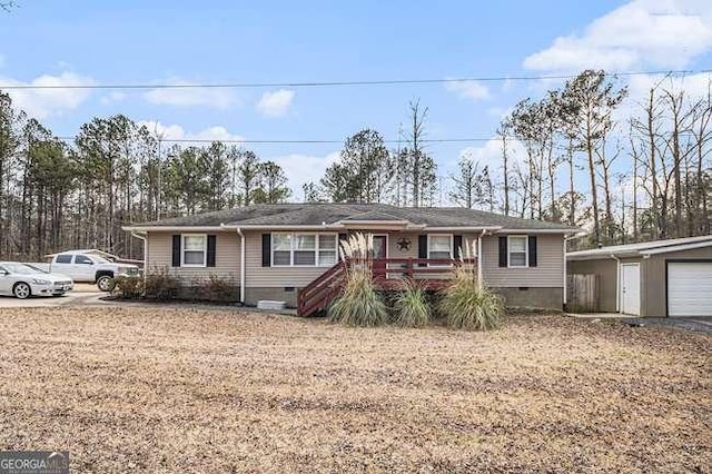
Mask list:
[[[251,150],[159,148],[122,115],[93,118],[67,144],[0,92],[0,258],[68,248],[140,257],[121,226],[290,197],[279,165]]]

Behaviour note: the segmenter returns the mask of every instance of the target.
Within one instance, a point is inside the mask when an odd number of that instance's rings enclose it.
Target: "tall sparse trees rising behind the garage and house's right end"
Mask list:
[[[520,101],[498,131],[502,192],[487,198],[505,214],[590,227],[593,246],[710,234],[712,85],[683,86],[664,78],[622,110],[629,89],[586,70]],[[525,160],[507,159],[507,137]]]

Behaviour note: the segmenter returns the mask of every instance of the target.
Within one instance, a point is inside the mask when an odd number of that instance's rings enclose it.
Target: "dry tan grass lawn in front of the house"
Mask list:
[[[711,472],[712,338],[0,310],[0,448],[72,472]]]

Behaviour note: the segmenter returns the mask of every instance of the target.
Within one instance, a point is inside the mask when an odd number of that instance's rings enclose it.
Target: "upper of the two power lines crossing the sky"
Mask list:
[[[709,73],[711,69],[675,70],[675,71],[623,71],[610,72],[609,76],[660,76],[660,75],[696,75]],[[457,82],[502,82],[573,79],[578,75],[542,75],[542,76],[484,76],[439,79],[382,79],[382,80],[350,80],[350,81],[315,81],[315,82],[225,82],[225,83],[83,83],[83,85],[7,85],[0,83],[4,90],[34,89],[256,89],[256,88],[313,88],[313,87],[349,87],[349,86],[397,86],[397,85],[429,85]]]

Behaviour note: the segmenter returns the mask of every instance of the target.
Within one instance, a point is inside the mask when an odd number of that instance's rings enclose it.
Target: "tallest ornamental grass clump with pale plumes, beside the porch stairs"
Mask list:
[[[332,320],[346,326],[374,327],[388,322],[388,312],[373,282],[373,240],[355,234],[340,245],[346,260],[344,290],[328,308]]]

